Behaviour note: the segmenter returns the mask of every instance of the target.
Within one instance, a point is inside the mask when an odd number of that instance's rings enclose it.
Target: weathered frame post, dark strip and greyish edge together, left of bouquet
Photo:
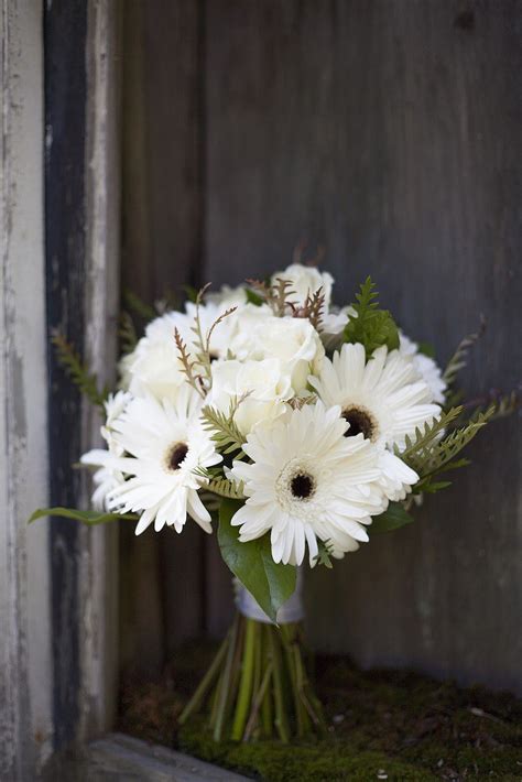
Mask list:
[[[118,302],[118,4],[45,9],[47,336],[59,330],[98,371],[113,372]],[[74,468],[100,420],[48,350],[50,493],[89,502]],[[115,716],[116,530],[51,525],[52,688],[56,749],[107,729]]]

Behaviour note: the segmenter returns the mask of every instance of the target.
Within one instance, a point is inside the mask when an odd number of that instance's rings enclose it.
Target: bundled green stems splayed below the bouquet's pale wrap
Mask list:
[[[238,613],[180,717],[206,706],[215,741],[273,738],[289,742],[326,730],[303,660],[302,627],[276,627]]]

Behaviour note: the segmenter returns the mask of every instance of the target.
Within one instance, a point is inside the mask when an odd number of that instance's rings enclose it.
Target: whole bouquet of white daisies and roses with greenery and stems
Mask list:
[[[382,309],[370,278],[331,302],[327,272],[293,263],[265,281],[165,302],[99,391],[62,337],[73,378],[104,413],[89,524],[134,520],[135,534],[217,535],[237,616],[182,721],[203,710],[216,740],[320,734],[302,641],[305,566],[331,567],[372,535],[413,521],[460,452],[513,399],[455,404],[467,337],[443,372]],[[141,307],[143,312],[143,307]],[[149,312],[146,312],[149,316]]]

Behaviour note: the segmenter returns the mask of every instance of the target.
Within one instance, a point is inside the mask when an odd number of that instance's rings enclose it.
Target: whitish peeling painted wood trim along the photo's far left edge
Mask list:
[[[42,7],[0,18],[0,779],[34,779],[52,749]]]

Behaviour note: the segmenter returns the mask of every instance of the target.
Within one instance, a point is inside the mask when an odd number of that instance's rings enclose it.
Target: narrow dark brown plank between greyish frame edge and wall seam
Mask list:
[[[199,3],[124,3],[122,284],[148,302],[199,280]],[[123,666],[150,675],[170,650],[203,630],[202,533],[151,533],[146,542],[126,534],[122,545]],[[152,617],[145,582],[157,604]]]

